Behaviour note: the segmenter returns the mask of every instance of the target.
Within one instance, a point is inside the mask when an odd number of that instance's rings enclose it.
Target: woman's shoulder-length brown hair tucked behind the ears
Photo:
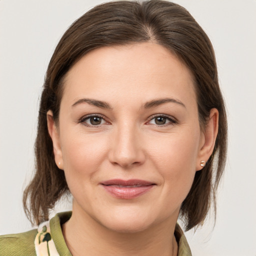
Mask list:
[[[69,192],[64,172],[54,161],[46,120],[46,112],[51,109],[54,121],[58,122],[65,74],[92,49],[146,41],[169,49],[192,72],[201,128],[206,125],[211,108],[219,112],[213,153],[203,170],[196,171],[180,215],[188,230],[202,223],[211,201],[215,209],[215,192],[226,158],[227,124],[210,40],[190,13],[178,4],[162,0],[113,1],[97,5],[78,18],[60,39],[49,62],[38,115],[36,170],[23,194],[24,209],[32,222],[47,220],[49,210]]]

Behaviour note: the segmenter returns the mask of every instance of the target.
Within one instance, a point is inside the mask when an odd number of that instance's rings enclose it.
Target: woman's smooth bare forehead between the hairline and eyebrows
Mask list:
[[[82,96],[116,102],[166,96],[195,100],[189,69],[152,42],[101,47],[83,56],[66,75],[63,100]]]

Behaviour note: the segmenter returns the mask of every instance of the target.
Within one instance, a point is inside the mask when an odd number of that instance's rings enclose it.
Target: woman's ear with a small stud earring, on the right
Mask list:
[[[199,151],[197,155],[196,161],[196,170],[200,170],[203,168],[201,166],[201,161],[203,165],[206,164],[209,159],[212,151],[214,149],[215,140],[218,133],[218,110],[216,108],[212,108],[210,110],[209,119],[206,124],[206,127],[203,131],[201,131]]]

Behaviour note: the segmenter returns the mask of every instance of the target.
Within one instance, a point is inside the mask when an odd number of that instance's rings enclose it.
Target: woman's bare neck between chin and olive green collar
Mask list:
[[[73,211],[62,231],[73,256],[86,255],[177,255],[174,237],[176,220],[165,220],[137,232],[116,232],[101,225],[89,215]]]

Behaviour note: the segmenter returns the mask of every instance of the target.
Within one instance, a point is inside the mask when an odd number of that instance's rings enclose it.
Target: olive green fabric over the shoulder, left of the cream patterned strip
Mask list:
[[[32,256],[35,254],[36,229],[17,234],[0,235],[0,256]]]

